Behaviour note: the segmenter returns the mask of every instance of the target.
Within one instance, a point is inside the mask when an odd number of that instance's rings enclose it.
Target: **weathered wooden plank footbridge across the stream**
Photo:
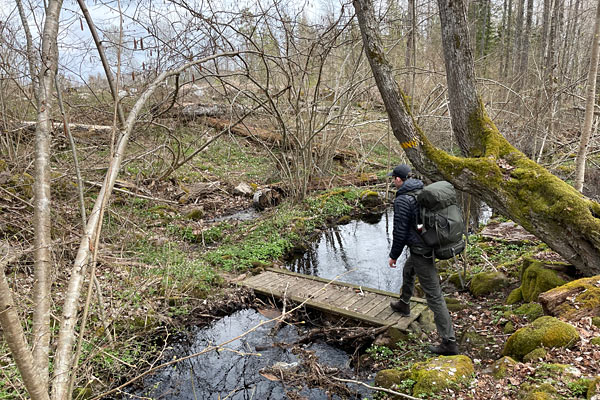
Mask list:
[[[331,281],[284,269],[269,268],[240,282],[255,292],[276,298],[304,303],[305,306],[374,326],[390,325],[407,330],[408,326],[427,309],[424,299],[411,299],[410,317],[402,317],[390,307],[398,294],[349,283]]]

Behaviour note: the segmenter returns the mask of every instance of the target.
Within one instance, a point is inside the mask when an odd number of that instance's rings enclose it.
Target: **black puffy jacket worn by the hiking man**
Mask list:
[[[407,193],[423,189],[423,182],[409,178],[396,192],[394,199],[394,231],[390,258],[400,257],[404,246],[423,246],[423,239],[417,232],[417,217],[419,206],[414,196]]]

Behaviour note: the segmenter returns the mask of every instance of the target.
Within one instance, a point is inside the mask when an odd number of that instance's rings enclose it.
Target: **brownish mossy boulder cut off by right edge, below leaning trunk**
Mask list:
[[[577,279],[540,296],[547,314],[576,321],[600,315],[600,275]]]

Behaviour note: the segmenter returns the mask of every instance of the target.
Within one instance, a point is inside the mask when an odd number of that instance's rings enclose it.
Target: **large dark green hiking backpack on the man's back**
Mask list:
[[[465,224],[450,182],[439,181],[425,186],[415,196],[420,208],[423,241],[433,249],[435,257],[447,260],[465,249]]]

